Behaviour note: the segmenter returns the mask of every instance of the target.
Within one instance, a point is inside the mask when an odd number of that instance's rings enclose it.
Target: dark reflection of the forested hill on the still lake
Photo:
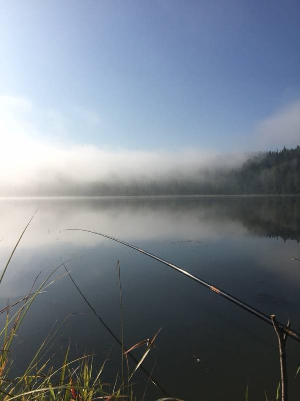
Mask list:
[[[105,204],[107,208],[201,213],[207,219],[237,221],[261,236],[300,242],[300,196],[115,197],[101,202],[101,207]]]

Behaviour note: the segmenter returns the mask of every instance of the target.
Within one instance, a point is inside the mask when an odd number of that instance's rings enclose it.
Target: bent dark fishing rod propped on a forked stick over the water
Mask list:
[[[253,308],[252,306],[246,304],[245,302],[241,301],[240,299],[234,297],[233,295],[228,294],[228,292],[225,292],[215,286],[213,286],[212,284],[207,283],[206,281],[200,279],[197,276],[194,276],[193,274],[187,272],[184,269],[181,269],[179,266],[174,265],[173,263],[168,262],[165,259],[160,258],[159,256],[153,255],[150,252],[145,251],[144,249],[138,248],[132,244],[128,244],[125,241],[119,240],[118,238],[114,238],[111,237],[107,234],[101,234],[101,233],[97,233],[96,231],[91,231],[91,230],[83,230],[83,229],[66,229],[63,231],[84,231],[86,233],[91,233],[91,234],[97,234],[100,235],[102,237],[108,238],[110,240],[116,241],[122,245],[125,245],[126,247],[135,249],[136,251],[149,256],[152,259],[157,260],[158,262],[163,263],[164,265],[169,266],[171,269],[176,270],[177,272],[184,274],[185,276],[189,277],[190,279],[196,281],[197,283],[203,285],[204,287],[208,288],[209,290],[215,292],[218,295],[221,295],[222,297],[228,299],[229,301],[233,302],[235,305],[239,306],[240,308],[245,309],[246,311],[248,311],[249,313],[251,313],[252,315],[258,317],[259,319],[263,320],[264,322],[270,324],[271,326],[273,326],[272,323],[272,319],[270,318],[270,316],[266,315],[263,312],[260,312],[258,309]],[[293,338],[294,340],[300,342],[300,333],[297,333],[296,331],[290,329],[289,327],[285,326],[282,323],[278,322],[278,326],[279,328],[289,337]]]

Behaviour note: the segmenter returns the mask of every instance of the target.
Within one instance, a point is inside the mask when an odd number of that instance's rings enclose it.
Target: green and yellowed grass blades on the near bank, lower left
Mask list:
[[[33,217],[30,219],[29,223],[22,232],[16,246],[14,247],[8,262],[0,276],[0,284],[3,280],[5,273],[9,267],[12,257],[23,237],[27,228],[29,227]],[[73,258],[75,259],[75,258]],[[52,273],[46,277],[46,279],[38,286],[34,291],[40,274],[34,280],[33,286],[25,297],[15,302],[12,305],[7,305],[2,310],[0,314],[6,314],[4,327],[0,328],[0,338],[2,341],[2,349],[0,350],[0,400],[19,400],[19,401],[94,401],[94,400],[105,400],[110,401],[114,399],[124,399],[128,401],[137,400],[134,394],[134,375],[138,369],[142,369],[148,375],[148,380],[145,384],[145,391],[142,395],[142,400],[144,400],[146,395],[146,390],[150,381],[155,383],[152,377],[153,369],[151,373],[148,373],[143,367],[142,363],[145,360],[147,354],[150,352],[151,348],[154,346],[154,341],[158,335],[158,331],[152,339],[146,339],[138,344],[132,346],[129,350],[124,347],[123,341],[123,305],[122,305],[122,289],[121,289],[121,275],[120,275],[120,263],[118,262],[118,278],[120,287],[120,306],[121,306],[121,341],[113,334],[115,339],[117,339],[121,344],[121,377],[119,378],[119,373],[116,374],[115,381],[113,383],[107,383],[103,380],[103,373],[106,366],[106,362],[109,357],[103,361],[100,367],[94,366],[94,355],[84,354],[83,356],[70,359],[70,348],[69,346],[65,352],[63,361],[61,365],[57,366],[54,363],[54,358],[56,354],[49,355],[51,349],[51,342],[55,338],[60,327],[64,324],[64,321],[57,326],[54,324],[53,329],[47,335],[45,340],[39,346],[36,353],[33,355],[32,360],[28,364],[24,373],[19,377],[11,378],[12,367],[18,364],[18,360],[15,360],[14,351],[12,350],[13,343],[18,337],[18,331],[26,314],[30,310],[33,302],[36,301],[38,296],[46,291],[46,289],[53,285],[57,280],[62,277],[69,275],[70,279],[73,281],[74,285],[81,293],[85,301],[88,303],[90,308],[96,314],[96,316],[102,321],[101,317],[97,315],[95,309],[88,302],[86,297],[80,291],[77,284],[74,282],[72,276],[67,270],[66,265],[72,261],[70,259],[63,262],[56,267]],[[66,273],[62,274],[56,279],[53,279],[53,275],[61,267],[64,267]],[[17,308],[17,310],[16,310]],[[102,321],[105,325],[105,323]],[[106,325],[105,325],[106,326]],[[108,326],[107,326],[108,328]],[[111,331],[108,328],[109,331]],[[132,355],[131,351],[138,347],[146,347],[145,352],[143,352],[140,360],[136,360]],[[133,357],[135,360],[135,367],[130,372],[128,356]],[[126,363],[124,363],[126,360]],[[154,366],[153,366],[154,368]],[[159,386],[159,384],[158,384]],[[177,400],[177,398],[161,398],[162,400]],[[180,400],[179,400],[180,401]]]

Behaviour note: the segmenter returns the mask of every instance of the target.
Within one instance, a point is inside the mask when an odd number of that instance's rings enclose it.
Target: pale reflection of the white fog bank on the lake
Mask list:
[[[95,244],[101,238],[80,233],[61,233],[66,228],[101,231],[127,239],[181,239],[186,236],[216,238],[242,235],[246,230],[214,207],[192,198],[56,198],[2,200],[3,237],[16,237],[35,208],[39,212],[27,233],[24,246],[60,241]],[[213,205],[212,205],[213,206]],[[13,219],[12,219],[13,216]],[[45,236],[49,234],[52,236]],[[55,235],[54,235],[55,234]],[[63,234],[63,236],[62,236]]]

